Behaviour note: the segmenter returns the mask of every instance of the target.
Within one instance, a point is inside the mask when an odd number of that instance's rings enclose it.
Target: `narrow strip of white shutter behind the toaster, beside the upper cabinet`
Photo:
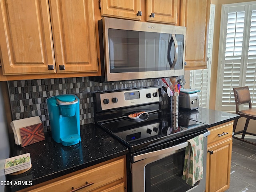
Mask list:
[[[215,5],[211,4],[208,32],[207,68],[190,71],[190,88],[200,90],[200,92],[198,92],[199,106],[204,108],[209,108],[214,15]]]

